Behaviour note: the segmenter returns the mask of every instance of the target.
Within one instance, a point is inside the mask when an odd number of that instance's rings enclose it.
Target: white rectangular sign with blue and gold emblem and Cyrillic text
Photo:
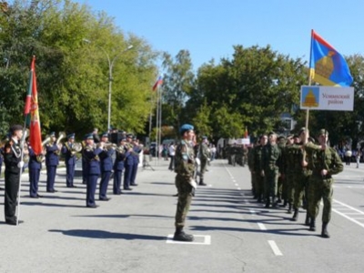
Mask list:
[[[354,87],[301,86],[300,108],[352,111]]]

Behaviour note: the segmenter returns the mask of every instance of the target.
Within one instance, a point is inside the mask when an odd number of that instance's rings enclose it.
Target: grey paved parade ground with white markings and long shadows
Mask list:
[[[362,272],[364,268],[364,166],[345,166],[336,177],[331,238],[290,221],[285,208],[264,208],[250,195],[248,167],[216,160],[207,187],[198,187],[187,217],[193,243],[173,235],[177,197],[168,161],[139,168],[137,187],[86,207],[86,186],[66,187],[59,168],[56,193],[28,197],[23,177],[18,227],[5,225],[0,191],[0,272]],[[4,178],[1,179],[4,187]],[[96,197],[98,189],[96,191]]]

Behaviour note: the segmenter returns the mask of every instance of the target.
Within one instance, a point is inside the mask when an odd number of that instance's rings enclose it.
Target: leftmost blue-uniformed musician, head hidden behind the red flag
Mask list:
[[[29,150],[29,196],[32,198],[40,197],[38,195],[38,183],[40,170],[42,169],[41,157],[37,157],[32,147]]]

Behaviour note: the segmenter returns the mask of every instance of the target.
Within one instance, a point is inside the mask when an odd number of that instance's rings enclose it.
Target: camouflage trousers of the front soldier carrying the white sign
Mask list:
[[[322,198],[324,203],[322,211],[322,222],[329,223],[331,219],[331,205],[332,205],[332,184],[334,179],[323,178],[319,176],[312,176],[309,179],[308,187],[308,213],[310,217],[318,217],[319,215],[319,201]]]

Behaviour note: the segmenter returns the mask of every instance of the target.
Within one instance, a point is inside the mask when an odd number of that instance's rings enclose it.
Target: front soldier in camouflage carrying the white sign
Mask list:
[[[328,224],[331,218],[332,184],[334,183],[332,175],[342,172],[344,165],[336,150],[328,146],[329,132],[326,129],[319,131],[319,146],[307,143],[307,139],[308,136],[305,137],[305,149],[308,153],[308,167],[312,170],[308,188],[309,230],[316,230],[315,219],[318,217],[319,202],[322,198],[324,207],[321,237],[329,238]]]

